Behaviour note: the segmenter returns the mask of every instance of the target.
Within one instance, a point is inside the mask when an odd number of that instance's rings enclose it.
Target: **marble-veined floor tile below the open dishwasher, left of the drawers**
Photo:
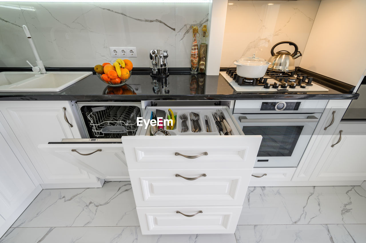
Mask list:
[[[12,227],[138,226],[129,181],[102,188],[45,189]]]

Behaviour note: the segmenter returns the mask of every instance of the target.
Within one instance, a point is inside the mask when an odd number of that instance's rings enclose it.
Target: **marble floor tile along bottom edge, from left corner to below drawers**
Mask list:
[[[0,243],[236,243],[234,234],[142,235],[140,227],[12,228]]]

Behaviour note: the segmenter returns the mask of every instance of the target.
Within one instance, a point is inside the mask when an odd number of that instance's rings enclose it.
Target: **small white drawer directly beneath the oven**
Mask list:
[[[249,186],[257,186],[257,182],[262,181],[291,181],[296,167],[278,168],[254,168],[250,178]],[[254,177],[259,176],[259,177]]]

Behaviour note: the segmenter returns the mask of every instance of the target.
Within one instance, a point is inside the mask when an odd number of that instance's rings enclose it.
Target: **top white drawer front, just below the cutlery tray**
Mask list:
[[[122,138],[128,169],[253,168],[261,140],[240,135]],[[191,159],[176,153],[202,155]]]

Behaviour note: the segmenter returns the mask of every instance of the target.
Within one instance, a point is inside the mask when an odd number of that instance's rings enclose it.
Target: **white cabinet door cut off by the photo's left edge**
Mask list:
[[[2,134],[0,134],[0,148],[0,215],[6,220],[36,186]]]

